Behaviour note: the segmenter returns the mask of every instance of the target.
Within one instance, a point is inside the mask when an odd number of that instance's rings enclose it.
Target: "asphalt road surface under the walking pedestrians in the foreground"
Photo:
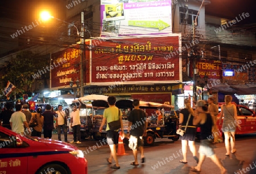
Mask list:
[[[56,136],[56,135],[55,135]],[[55,139],[53,136],[53,139]],[[72,135],[68,135],[68,140],[72,140]],[[84,152],[85,158],[88,160],[88,173],[220,173],[217,165],[209,158],[205,159],[201,172],[191,171],[191,167],[196,165],[192,158],[191,152],[188,150],[188,164],[179,163],[183,159],[181,155],[181,141],[173,142],[169,139],[157,138],[154,146],[144,147],[144,156],[146,162],[138,166],[130,165],[134,161],[132,151],[125,144],[125,152],[128,155],[118,156],[120,169],[111,169],[106,164],[106,158],[110,155],[109,146],[103,141],[95,141],[90,139],[82,140],[81,144],[74,144]],[[256,134],[239,135],[236,137],[236,154],[225,156],[225,144],[218,143],[214,151],[228,173],[243,174],[256,173]],[[200,142],[196,142],[198,150]],[[140,156],[138,155],[139,159]],[[141,161],[139,160],[139,163]]]

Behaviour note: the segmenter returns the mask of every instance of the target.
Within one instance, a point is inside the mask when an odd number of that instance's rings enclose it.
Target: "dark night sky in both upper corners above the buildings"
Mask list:
[[[53,16],[64,19],[65,3],[65,0],[1,0],[0,15],[1,17],[20,20],[22,22],[31,22],[39,18],[38,14],[40,10],[51,9]],[[206,6],[206,10],[208,14],[230,19],[236,18],[236,16],[239,16],[243,12],[249,13],[250,17],[241,21],[240,24],[256,21],[255,0],[211,0],[210,5]]]

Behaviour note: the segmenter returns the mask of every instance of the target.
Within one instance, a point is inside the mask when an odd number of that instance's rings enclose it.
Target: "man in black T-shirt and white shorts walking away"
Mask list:
[[[134,162],[131,165],[139,165],[138,163],[138,148],[141,151],[141,163],[144,163],[144,140],[143,136],[147,135],[147,117],[146,113],[139,109],[139,100],[133,101],[134,110],[131,111],[128,117],[128,134],[129,147],[133,150]],[[129,132],[130,130],[130,132]]]

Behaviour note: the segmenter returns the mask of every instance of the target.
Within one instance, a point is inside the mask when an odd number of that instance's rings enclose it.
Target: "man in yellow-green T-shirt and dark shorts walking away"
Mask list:
[[[99,131],[102,132],[102,128],[105,125],[105,122],[107,122],[106,137],[107,137],[107,141],[108,141],[111,152],[110,152],[109,158],[107,158],[106,160],[108,161],[108,164],[112,164],[112,158],[113,158],[115,161],[115,165],[112,165],[110,168],[119,169],[120,165],[118,163],[117,152],[115,150],[115,145],[118,144],[118,138],[119,138],[118,130],[110,130],[108,125],[109,122],[117,121],[118,119],[120,119],[122,137],[124,137],[122,114],[121,114],[121,111],[118,109],[118,107],[115,106],[115,101],[116,99],[114,96],[108,97],[109,108],[104,110],[103,119],[102,119],[102,123]]]

